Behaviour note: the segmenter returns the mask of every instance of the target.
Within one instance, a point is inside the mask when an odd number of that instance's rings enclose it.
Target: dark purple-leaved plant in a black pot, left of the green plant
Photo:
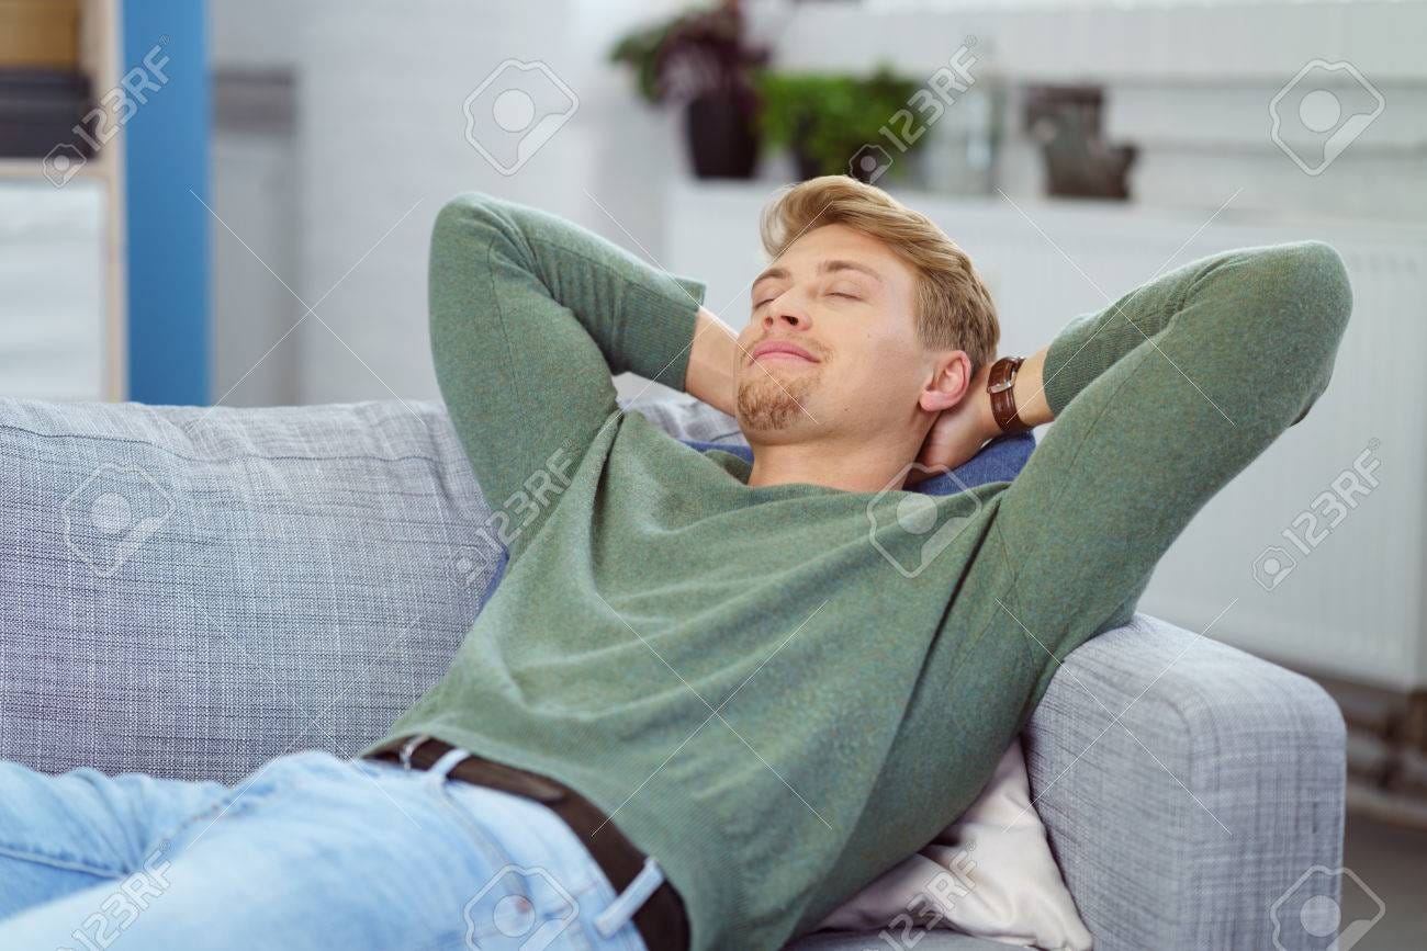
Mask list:
[[[725,0],[631,33],[609,50],[611,63],[634,67],[646,101],[684,103],[699,178],[749,178],[758,163],[752,77],[768,50],[749,44],[743,26],[738,0]]]

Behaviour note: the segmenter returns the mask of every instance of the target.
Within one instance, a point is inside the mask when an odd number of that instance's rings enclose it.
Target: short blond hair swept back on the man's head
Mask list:
[[[806,231],[842,224],[880,240],[919,275],[916,338],[926,349],[960,349],[972,372],[996,359],[1000,322],[972,259],[930,218],[876,185],[822,175],[788,185],[763,208],[759,237],[776,259]]]

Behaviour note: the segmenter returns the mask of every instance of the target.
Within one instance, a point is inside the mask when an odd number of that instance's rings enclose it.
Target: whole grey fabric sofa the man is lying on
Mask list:
[[[626,406],[741,439],[688,396]],[[351,754],[479,610],[488,516],[438,403],[0,399],[0,757],[233,781]],[[1343,723],[1311,682],[1136,615],[1066,662],[1025,749],[1097,948],[1317,947],[1280,901],[1341,857]]]

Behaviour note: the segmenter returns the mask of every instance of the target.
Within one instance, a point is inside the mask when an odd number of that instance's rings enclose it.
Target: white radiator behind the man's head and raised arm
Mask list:
[[[706,281],[706,305],[735,328],[748,322],[758,211],[769,191],[685,184],[671,194],[661,264]],[[1016,200],[1017,211],[1002,197],[900,197],[975,258],[1010,354],[1045,345],[1072,317],[1104,307],[1104,295],[1204,254],[1301,238],[1333,244],[1351,272],[1354,317],[1329,391],[1204,506],[1140,609],[1203,630],[1233,605],[1210,636],[1300,669],[1427,684],[1427,230],[1250,222],[1232,204],[1206,225],[1207,211]]]

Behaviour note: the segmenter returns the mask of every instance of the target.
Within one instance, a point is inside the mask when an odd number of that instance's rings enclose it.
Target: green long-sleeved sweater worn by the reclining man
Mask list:
[[[618,411],[611,374],[684,388],[701,282],[481,192],[438,215],[430,277],[509,563],[388,739],[584,793],[659,860],[694,951],[782,947],[965,811],[1059,659],[1130,619],[1190,516],[1319,398],[1351,309],[1310,241],[1070,321],[1026,468],[918,496],[953,526],[923,536],[910,493],[751,488]]]

